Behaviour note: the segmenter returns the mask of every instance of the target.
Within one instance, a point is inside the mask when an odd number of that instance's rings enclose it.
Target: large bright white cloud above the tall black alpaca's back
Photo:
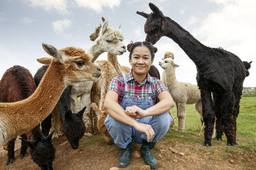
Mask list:
[[[209,47],[223,47],[235,53],[241,60],[251,61],[256,56],[256,1],[211,0],[220,5],[219,10],[209,14],[195,37]],[[255,86],[256,68],[252,66],[244,86]]]

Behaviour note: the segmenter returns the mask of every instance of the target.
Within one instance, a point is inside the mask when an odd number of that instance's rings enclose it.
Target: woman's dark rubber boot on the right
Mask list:
[[[151,154],[150,149],[153,149],[155,147],[156,143],[148,143],[147,141],[142,141],[142,146],[140,147],[140,154],[143,157],[143,160],[146,165],[149,165],[151,168],[157,168],[158,162],[156,161],[156,158],[153,157]]]

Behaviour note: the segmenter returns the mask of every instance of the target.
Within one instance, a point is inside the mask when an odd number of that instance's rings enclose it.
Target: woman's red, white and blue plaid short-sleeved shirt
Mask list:
[[[132,75],[131,71],[127,73],[127,84],[128,84],[128,92],[127,95],[130,97],[147,97],[149,93],[149,86],[152,84],[152,92],[151,95],[153,103],[156,101],[156,97],[163,91],[167,91],[167,88],[164,84],[156,77],[151,77],[149,73],[147,73],[147,77],[145,80],[139,84],[135,79],[134,75]],[[118,75],[114,77],[114,79],[109,84],[109,90],[118,93],[118,104],[121,104],[122,99],[125,96],[125,82],[123,75]]]

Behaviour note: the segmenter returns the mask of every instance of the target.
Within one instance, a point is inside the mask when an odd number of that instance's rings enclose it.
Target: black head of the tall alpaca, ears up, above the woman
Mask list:
[[[150,14],[138,11],[136,13],[147,19],[144,25],[144,31],[147,34],[146,40],[154,45],[162,36],[165,36],[164,32],[167,29],[166,17],[153,3],[149,3],[149,8],[152,10]]]

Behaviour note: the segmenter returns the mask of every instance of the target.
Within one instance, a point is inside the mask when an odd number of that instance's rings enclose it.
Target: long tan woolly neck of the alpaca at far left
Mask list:
[[[23,101],[9,104],[0,104],[0,115],[7,114],[14,135],[18,136],[28,132],[43,121],[54,109],[58,99],[65,89],[63,75],[58,63],[52,62],[47,69],[41,83],[36,91]],[[8,105],[10,110],[6,111],[2,106]],[[10,134],[12,136],[13,134]],[[12,136],[14,137],[14,136]]]

